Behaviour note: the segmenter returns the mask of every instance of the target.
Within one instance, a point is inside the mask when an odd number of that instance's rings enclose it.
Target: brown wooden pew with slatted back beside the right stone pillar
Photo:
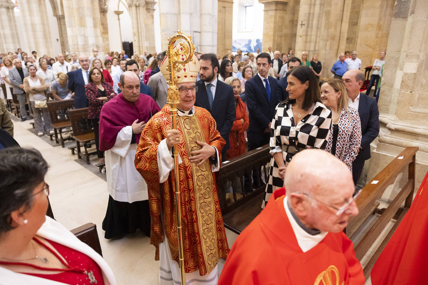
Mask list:
[[[358,244],[354,244],[355,255],[357,259],[361,260],[377,240],[380,233],[385,229],[389,220],[395,217],[396,222],[389,233],[386,235],[385,239],[380,244],[380,247],[376,250],[372,258],[364,267],[364,276],[366,279],[370,276],[370,271],[377,258],[380,256],[383,248],[385,248],[392,234],[395,232],[395,229],[398,227],[399,223],[403,219],[404,215],[407,213],[410,205],[413,200],[413,191],[415,188],[415,159],[416,152],[419,150],[419,147],[407,147],[404,149],[392,162],[389,163],[383,170],[381,170],[367,185],[363,188],[361,194],[357,197],[356,203],[360,213],[356,217],[351,217],[348,222],[346,233],[349,238],[355,236],[358,232],[358,229],[369,219],[369,217],[374,214],[380,214],[380,217],[376,220],[373,226],[369,229],[366,235],[363,236],[361,241]],[[401,191],[398,192],[397,196],[392,200],[389,206],[386,209],[377,209],[380,205],[377,202],[380,197],[382,197],[383,192],[386,188],[395,182],[397,176],[404,172],[408,167],[408,179]],[[378,181],[377,183],[372,183]],[[404,207],[400,206],[404,202]],[[352,232],[351,230],[352,229]]]

